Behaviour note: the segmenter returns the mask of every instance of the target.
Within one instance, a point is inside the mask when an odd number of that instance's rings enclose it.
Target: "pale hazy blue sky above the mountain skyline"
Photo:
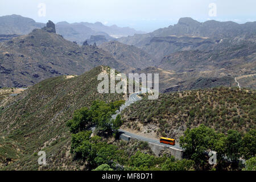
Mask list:
[[[1,0],[0,16],[18,14],[44,23],[98,21],[153,31],[188,16],[200,22],[252,22],[255,7],[255,0]]]

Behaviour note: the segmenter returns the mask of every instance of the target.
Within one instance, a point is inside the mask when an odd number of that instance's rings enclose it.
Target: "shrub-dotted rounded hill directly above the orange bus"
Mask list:
[[[150,138],[171,137],[179,142],[187,128],[200,124],[226,133],[256,128],[255,90],[213,88],[160,94],[122,111],[123,129]]]

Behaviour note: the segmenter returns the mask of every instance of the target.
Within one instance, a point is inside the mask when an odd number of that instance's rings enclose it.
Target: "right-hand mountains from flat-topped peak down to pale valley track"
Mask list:
[[[141,72],[159,73],[160,92],[236,86],[235,77],[256,88],[256,22],[180,18],[174,26],[117,40],[155,57],[156,66]]]

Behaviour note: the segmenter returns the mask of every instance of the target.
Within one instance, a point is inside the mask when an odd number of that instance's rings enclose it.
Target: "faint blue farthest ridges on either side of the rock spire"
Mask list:
[[[35,28],[46,26],[44,23],[35,22],[31,18],[25,18],[20,15],[7,15],[0,17],[0,34],[10,35],[27,35]],[[62,35],[65,39],[82,44],[91,35],[104,35],[107,40],[129,36],[134,34],[143,34],[142,31],[136,31],[129,27],[105,26],[100,22],[96,23],[56,23],[57,34]]]

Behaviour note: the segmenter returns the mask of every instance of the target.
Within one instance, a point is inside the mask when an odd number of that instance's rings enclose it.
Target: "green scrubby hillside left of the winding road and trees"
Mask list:
[[[0,103],[0,168],[38,170],[38,151],[44,150],[44,169],[79,169],[72,160],[71,133],[66,122],[73,111],[89,107],[94,100],[123,100],[123,94],[99,94],[97,76],[110,72],[97,67],[77,77],[49,78],[7,102]],[[8,145],[7,145],[8,144]]]

